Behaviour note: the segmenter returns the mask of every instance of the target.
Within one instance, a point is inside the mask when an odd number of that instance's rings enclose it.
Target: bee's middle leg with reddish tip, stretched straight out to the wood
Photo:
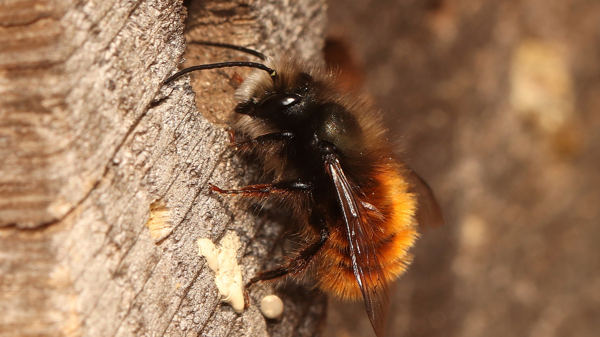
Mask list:
[[[313,184],[296,181],[259,183],[256,185],[244,186],[239,189],[218,188],[217,186],[212,185],[212,183],[209,183],[209,185],[211,186],[211,192],[240,194],[242,197],[247,198],[268,198],[271,195],[275,198],[305,197],[307,193],[313,190]]]

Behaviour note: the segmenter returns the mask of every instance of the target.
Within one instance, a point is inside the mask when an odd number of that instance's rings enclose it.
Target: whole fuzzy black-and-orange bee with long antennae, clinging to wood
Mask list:
[[[247,284],[301,278],[343,299],[361,298],[377,336],[385,335],[389,284],[412,261],[418,222],[442,222],[431,189],[394,154],[379,112],[356,92],[341,89],[330,68],[293,55],[267,58],[245,47],[203,43],[250,53],[265,61],[223,62],[195,70],[256,68],[235,97],[235,147],[271,183],[211,191],[264,200],[293,210],[299,248],[277,269]],[[235,141],[235,136],[233,136]]]

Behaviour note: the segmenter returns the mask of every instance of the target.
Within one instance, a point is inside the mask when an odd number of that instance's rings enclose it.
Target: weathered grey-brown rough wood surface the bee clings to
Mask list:
[[[242,314],[221,305],[196,240],[234,231],[247,281],[277,262],[283,227],[208,190],[253,174],[226,128],[205,118],[226,121],[235,70],[194,76],[210,89],[197,97],[188,77],[162,83],[184,56],[184,34],[319,59],[323,2],[186,5],[184,23],[176,0],[0,4],[0,336],[319,329],[323,299],[292,284],[256,287]],[[206,50],[190,46],[187,58],[195,64]],[[284,300],[277,321],[256,305],[269,291]]]

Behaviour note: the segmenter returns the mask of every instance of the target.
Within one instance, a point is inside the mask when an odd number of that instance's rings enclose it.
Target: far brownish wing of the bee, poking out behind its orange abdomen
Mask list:
[[[416,211],[416,219],[421,227],[438,227],[444,224],[442,209],[437,203],[436,197],[425,180],[412,169],[408,170],[409,179],[414,184],[411,192],[417,194],[419,204]]]

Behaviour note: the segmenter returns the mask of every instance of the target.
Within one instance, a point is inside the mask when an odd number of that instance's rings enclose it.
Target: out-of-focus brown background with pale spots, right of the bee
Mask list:
[[[328,37],[446,219],[388,336],[599,336],[600,1],[329,0]],[[374,336],[362,303],[328,315]]]

